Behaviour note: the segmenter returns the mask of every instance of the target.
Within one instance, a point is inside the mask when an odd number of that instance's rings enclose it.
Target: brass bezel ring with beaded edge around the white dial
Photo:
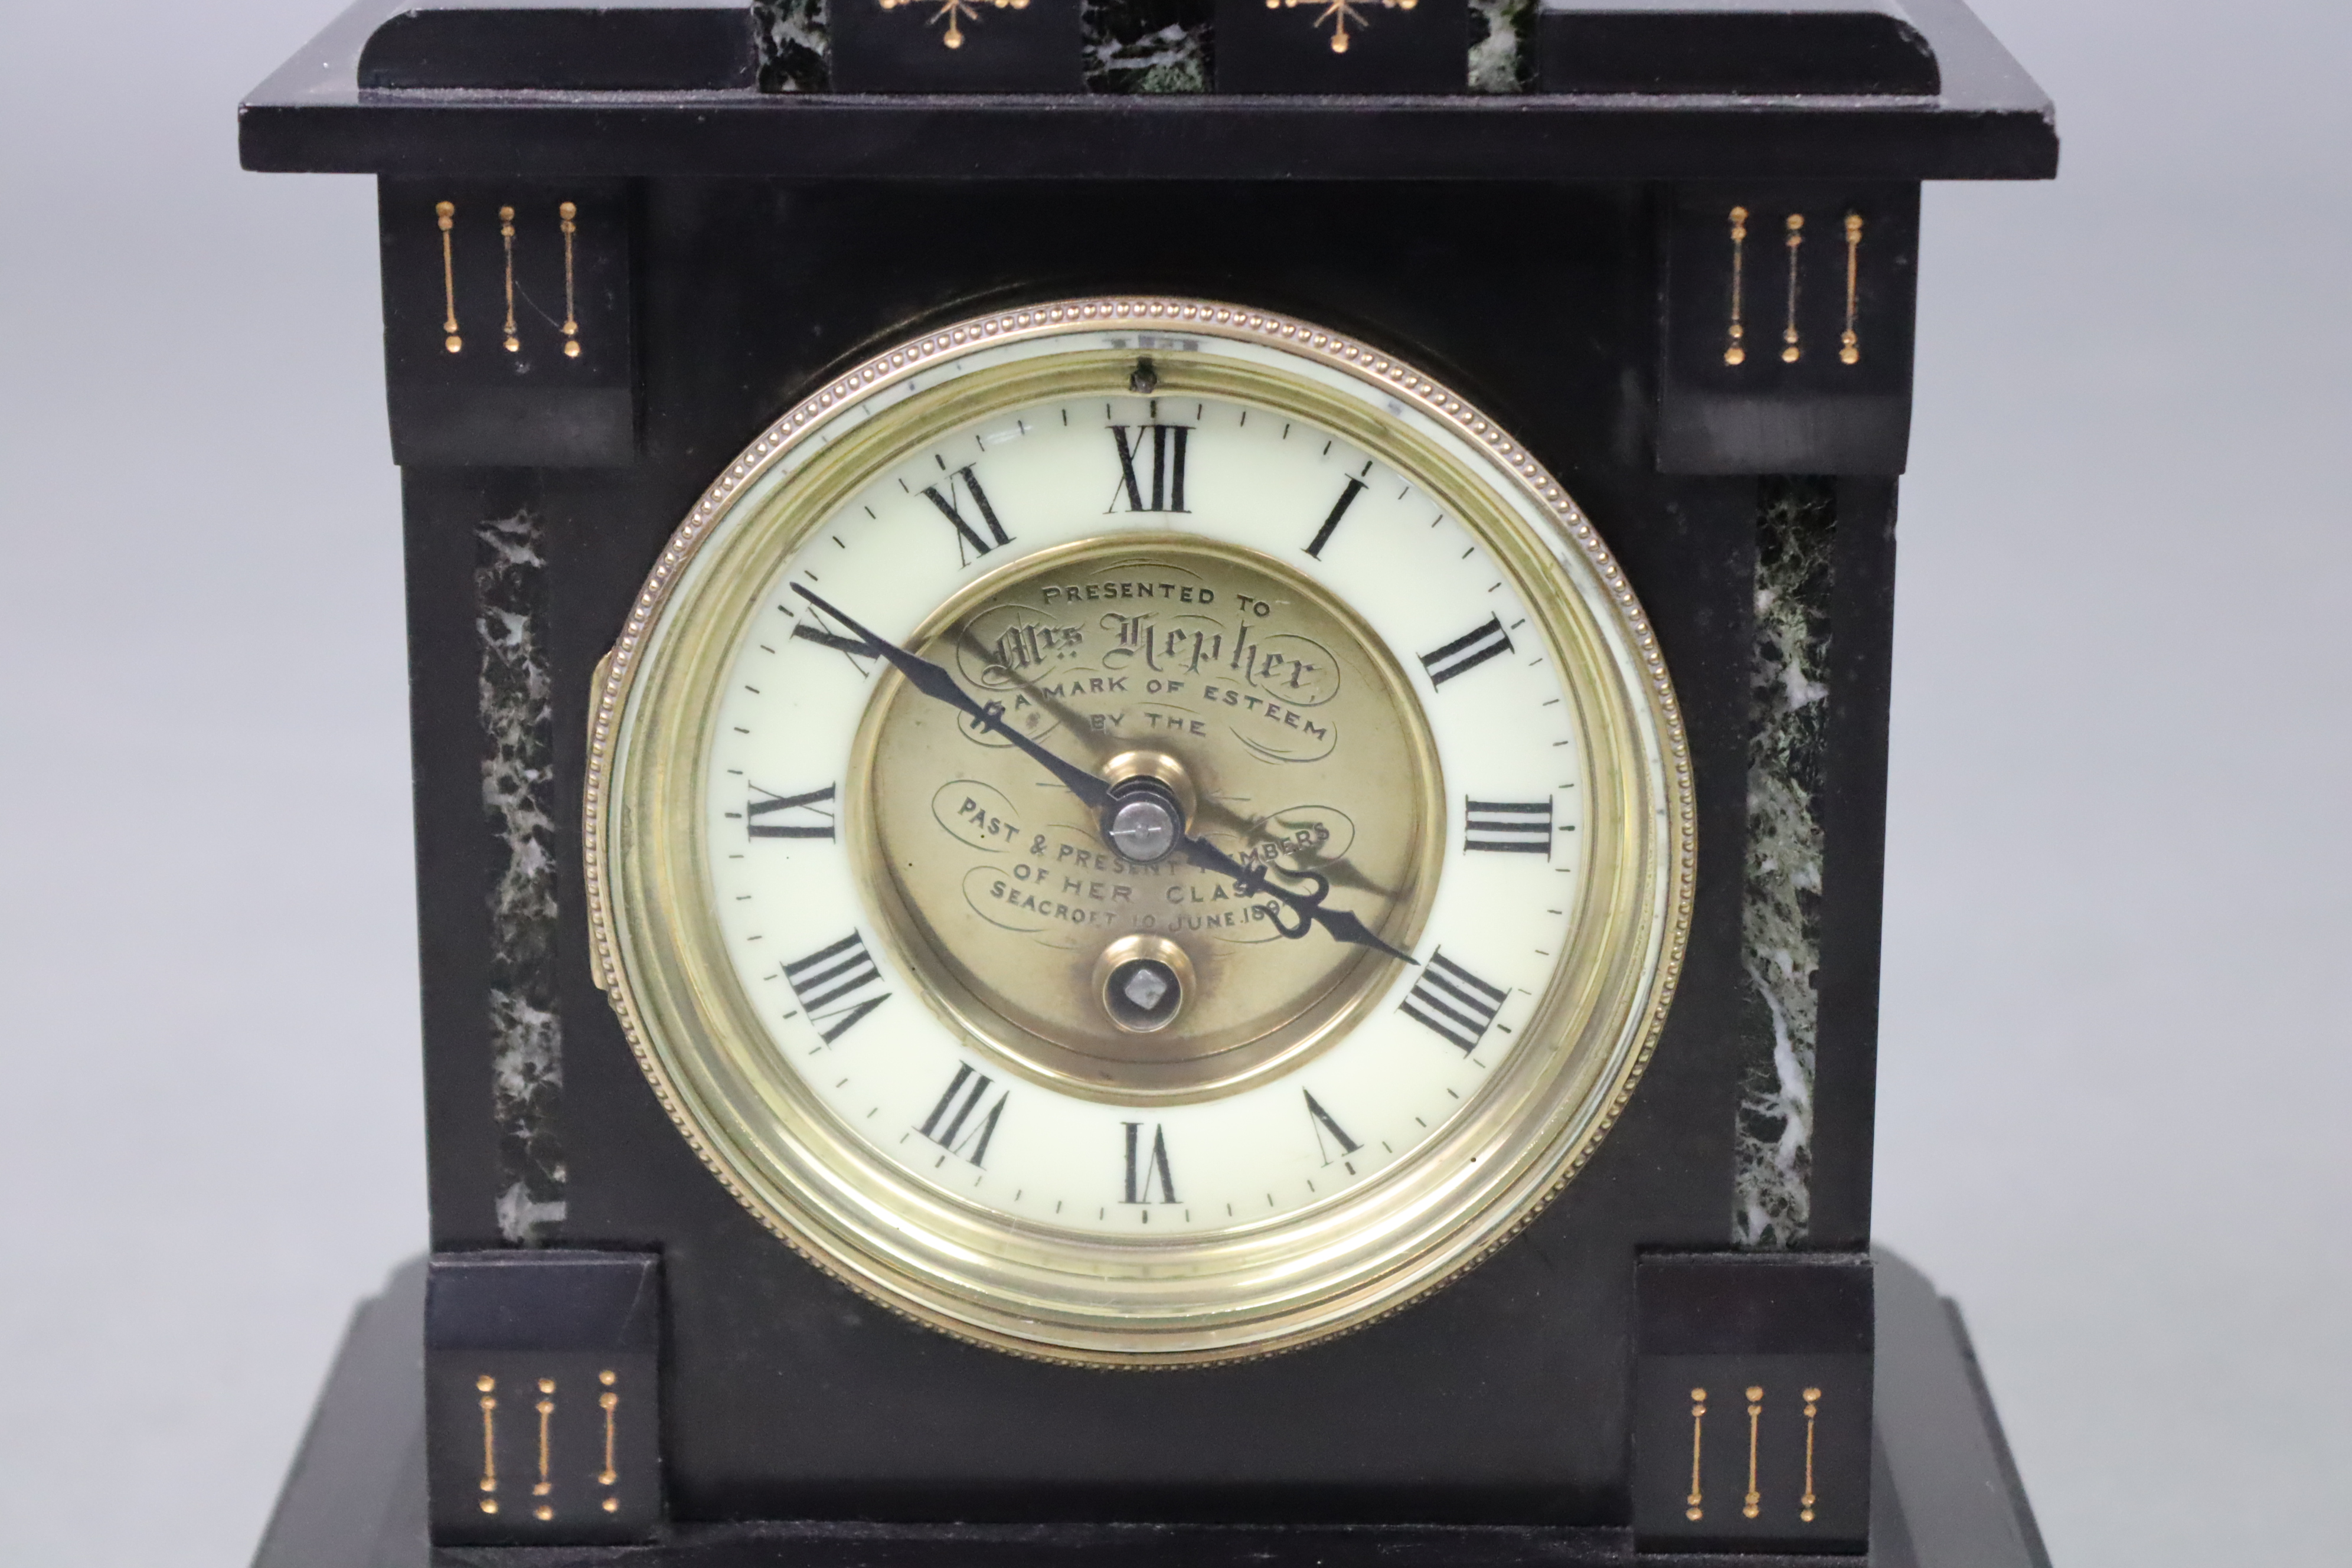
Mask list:
[[[729,616],[713,607],[736,581],[729,567],[746,569],[748,529],[729,527],[748,522],[739,501],[786,468],[776,505],[821,517],[858,468],[837,454],[858,449],[863,430],[835,421],[924,376],[931,386],[866,430],[948,425],[971,388],[946,367],[1000,350],[1061,360],[1056,343],[1105,362],[1150,353],[1162,393],[1221,390],[1221,371],[1247,371],[1251,400],[1364,442],[1496,552],[1543,639],[1576,670],[1595,783],[1588,875],[1522,1048],[1442,1135],[1381,1178],[1211,1237],[1044,1232],[920,1187],[866,1152],[764,1067],[724,959],[691,936],[708,903],[701,813],[666,813],[706,757],[706,736],[680,729],[694,708],[677,701],[680,672],[715,639],[731,642]],[[1011,400],[1016,383],[990,378],[985,390]],[[835,435],[811,456],[818,437]],[[1411,367],[1305,322],[1211,301],[1089,299],[967,320],[877,355],[779,418],[654,567],[604,665],[588,762],[593,964],[689,1145],[769,1229],[842,1281],[931,1328],[1054,1361],[1145,1368],[1272,1354],[1359,1328],[1479,1262],[1616,1124],[1656,1048],[1689,936],[1689,745],[1656,635],[1583,512],[1489,418]]]

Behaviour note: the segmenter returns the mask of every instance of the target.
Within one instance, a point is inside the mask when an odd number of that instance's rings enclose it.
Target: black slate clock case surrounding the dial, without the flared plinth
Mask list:
[[[374,172],[381,190],[435,1540],[1192,1521],[1517,1528],[1428,1547],[1446,1561],[1865,1549],[1919,181],[2051,174],[2046,101],[1957,0],[1548,0],[1519,24],[1531,89],[1371,75],[1359,92],[1395,96],[1350,99],[1319,75],[1256,96],[1282,54],[1249,56],[1242,28],[1216,80],[1254,96],[1084,92],[1051,56],[1075,9],[1028,12],[1047,56],[974,49],[1025,96],[943,92],[929,54],[910,78],[842,56],[858,94],[793,94],[755,85],[776,12],[369,0],[242,110],[249,167]],[[927,14],[861,14],[835,47]],[[974,40],[997,24],[985,5],[962,21]],[[1740,71],[1773,96],[1724,96]],[[1023,1361],[823,1276],[670,1126],[586,959],[588,693],[680,517],[828,371],[943,320],[1096,294],[1282,310],[1472,397],[1625,564],[1698,780],[1684,983],[1590,1168],[1418,1305],[1197,1371]],[[1797,654],[1759,621],[1759,583],[1783,621],[1804,597]],[[1785,675],[1776,646],[1825,689],[1795,736],[1757,696]],[[1792,780],[1820,856],[1818,886],[1780,905],[1755,769]],[[1785,1190],[1750,1204],[1785,1131],[1757,1105],[1776,1023],[1788,1044],[1757,980],[1773,907],[1818,959],[1802,1213]],[[1249,1540],[1185,1556],[1265,1549]]]

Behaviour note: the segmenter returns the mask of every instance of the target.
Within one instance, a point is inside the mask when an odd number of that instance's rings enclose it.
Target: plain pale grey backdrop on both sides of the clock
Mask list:
[[[0,7],[0,1559],[230,1566],[421,1246],[365,179],[334,0]],[[2352,7],[1983,0],[2056,186],[1933,188],[1879,1234],[2065,1568],[2343,1563]]]

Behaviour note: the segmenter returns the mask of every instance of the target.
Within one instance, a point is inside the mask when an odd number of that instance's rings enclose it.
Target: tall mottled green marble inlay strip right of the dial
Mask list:
[[[1830,590],[1837,491],[1773,480],[1759,496],[1748,686],[1748,867],[1740,966],[1748,1006],[1731,1234],[1804,1241],[1813,1218],[1823,832],[1830,733]]]

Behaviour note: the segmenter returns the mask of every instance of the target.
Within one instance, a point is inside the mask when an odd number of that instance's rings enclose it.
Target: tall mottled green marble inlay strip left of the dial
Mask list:
[[[546,665],[539,520],[475,529],[482,646],[482,809],[501,860],[489,889],[492,1114],[499,1124],[499,1234],[550,1241],[564,1220],[562,1018],[555,1004],[555,708]]]

